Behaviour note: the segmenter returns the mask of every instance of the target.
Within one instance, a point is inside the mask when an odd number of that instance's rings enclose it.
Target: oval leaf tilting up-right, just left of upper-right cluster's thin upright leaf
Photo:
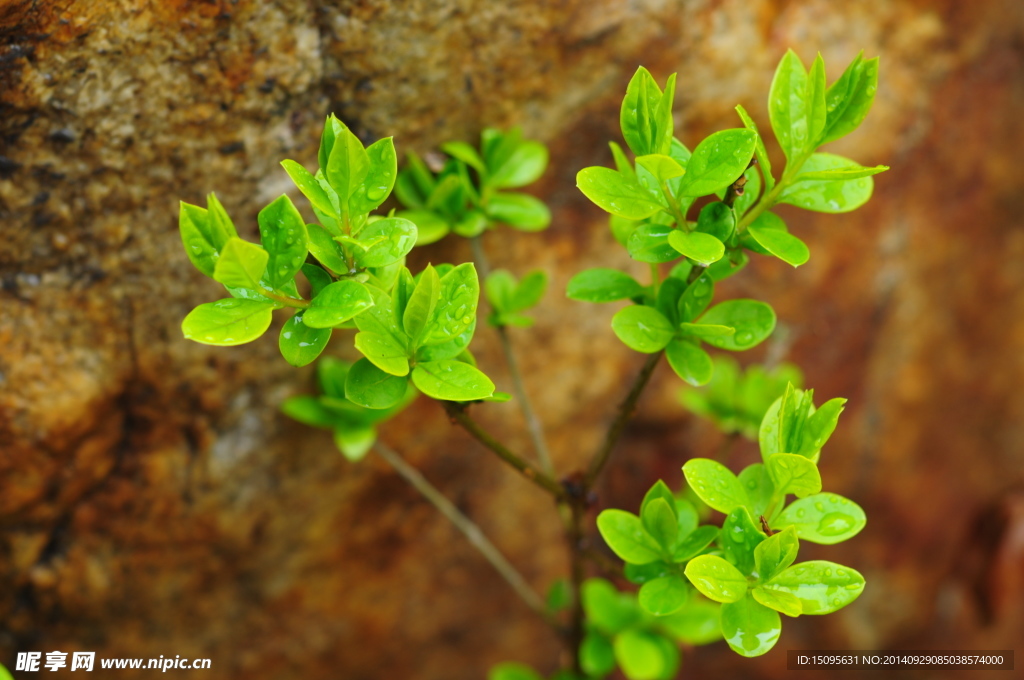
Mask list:
[[[736,181],[754,157],[757,137],[751,130],[735,128],[706,138],[693,150],[678,194],[708,196]]]

